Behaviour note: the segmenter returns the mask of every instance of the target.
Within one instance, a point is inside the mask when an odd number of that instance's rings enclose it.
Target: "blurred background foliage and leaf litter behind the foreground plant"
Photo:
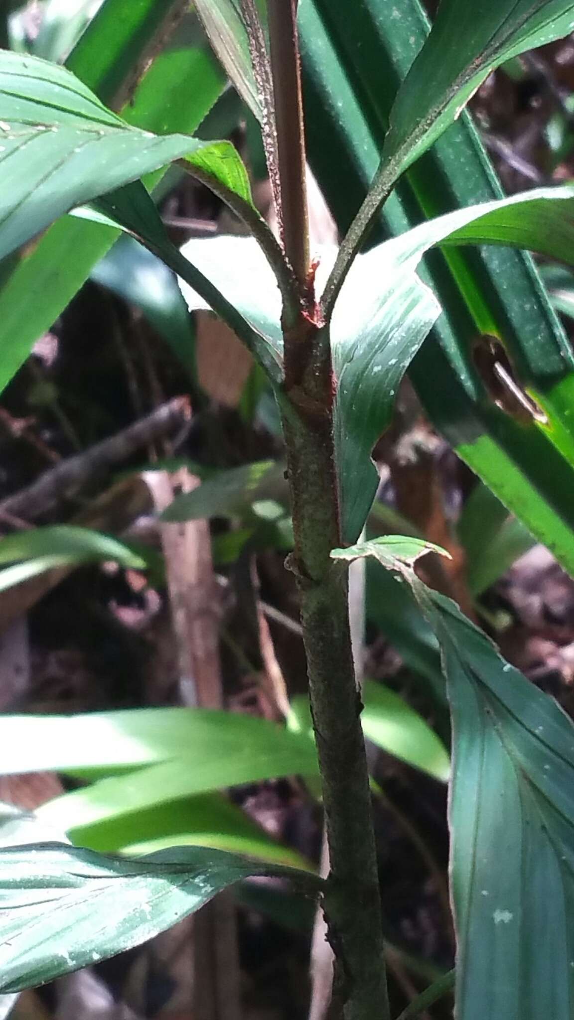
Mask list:
[[[233,141],[273,221],[249,76],[239,95],[197,15],[168,6],[4,3],[0,41],[65,62],[134,124]],[[317,248],[336,242],[374,172],[390,92],[424,35],[420,11],[414,23],[404,19],[409,40],[397,30],[391,47],[381,26],[369,34],[342,5],[302,5]],[[363,33],[361,60],[353,33]],[[389,97],[374,97],[371,61],[382,55],[396,83],[391,75]],[[346,119],[326,100],[329,74],[339,75],[330,88],[338,82]],[[570,180],[572,40],[499,68],[472,110],[508,194]],[[460,159],[463,146],[470,162],[461,170],[452,152]],[[497,194],[477,147],[464,117],[387,203],[379,239]],[[151,184],[178,246],[241,233],[176,167]],[[451,560],[429,560],[429,582],[572,714],[571,377],[557,378],[552,365],[572,336],[574,276],[548,261],[538,267],[554,310],[542,290],[536,308],[524,299],[527,257],[427,256],[448,314],[375,449],[368,531],[446,548]],[[503,359],[553,431],[525,424],[512,389],[493,388],[488,358],[473,353],[484,333],[497,344],[487,355]],[[292,527],[282,438],[260,369],[210,313],[188,314],[157,259],[71,216],[0,263],[0,799],[38,809],[42,823],[96,850],[197,844],[320,868],[304,658],[283,568]],[[444,681],[436,640],[393,576],[357,569],[351,612],[396,1013],[452,962]],[[222,904],[142,950],[25,993],[13,1016],[308,1015],[313,905],[287,896],[281,879],[245,881]],[[321,933],[314,966],[320,1011]],[[445,1000],[428,1015],[450,1008]]]

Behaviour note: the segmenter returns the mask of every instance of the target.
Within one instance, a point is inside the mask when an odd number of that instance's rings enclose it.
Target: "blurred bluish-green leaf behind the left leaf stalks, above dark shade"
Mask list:
[[[91,278],[139,308],[196,378],[195,333],[174,273],[133,238],[121,238]]]

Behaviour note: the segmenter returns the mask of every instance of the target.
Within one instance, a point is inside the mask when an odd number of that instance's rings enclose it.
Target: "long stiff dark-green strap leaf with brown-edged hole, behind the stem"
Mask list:
[[[307,152],[342,235],[376,172],[394,95],[428,33],[418,0],[404,0],[399,18],[395,9],[379,0],[344,8],[329,0],[306,0],[299,8]],[[370,240],[501,194],[478,134],[463,113],[398,183],[381,210],[377,237]],[[529,255],[499,248],[447,249],[445,255],[431,255],[420,267],[444,312],[432,341],[412,363],[411,379],[433,424],[459,456],[574,572],[572,458],[555,449],[572,407],[570,345]],[[552,428],[542,434],[534,425],[516,424],[491,405],[470,358],[477,333],[503,338],[522,385],[536,399],[542,396]],[[385,609],[391,608],[387,600]]]

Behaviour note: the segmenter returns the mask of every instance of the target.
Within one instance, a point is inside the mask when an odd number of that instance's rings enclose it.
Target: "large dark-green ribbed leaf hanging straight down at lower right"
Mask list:
[[[371,543],[357,555],[372,555]],[[453,602],[400,560],[393,568],[438,638],[452,711],[457,1015],[569,1020],[574,725]]]

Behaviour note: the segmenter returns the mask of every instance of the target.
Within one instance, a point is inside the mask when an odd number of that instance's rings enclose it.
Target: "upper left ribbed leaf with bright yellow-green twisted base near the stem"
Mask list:
[[[202,180],[243,195],[244,168],[227,142],[156,137],[107,110],[63,67],[0,56],[0,257],[58,216],[185,156]]]

